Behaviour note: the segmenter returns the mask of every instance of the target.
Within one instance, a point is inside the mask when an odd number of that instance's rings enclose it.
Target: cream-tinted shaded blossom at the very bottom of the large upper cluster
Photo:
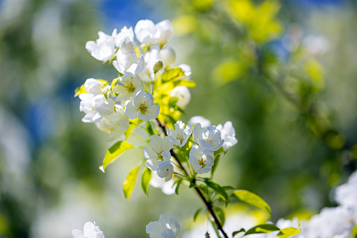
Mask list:
[[[116,105],[116,111],[113,114],[107,117],[102,117],[99,121],[96,121],[95,126],[97,126],[100,131],[108,134],[107,141],[115,139],[125,140],[126,136],[124,135],[124,132],[129,127],[129,120],[121,107]]]

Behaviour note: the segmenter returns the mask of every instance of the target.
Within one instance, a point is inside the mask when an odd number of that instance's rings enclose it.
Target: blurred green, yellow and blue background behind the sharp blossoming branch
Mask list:
[[[331,191],[357,164],[356,1],[1,0],[0,237],[71,237],[88,220],[106,237],[147,237],[166,213],[182,236],[191,227],[201,204],[187,187],[145,197],[137,185],[126,201],[142,152],[102,173],[111,143],[81,122],[73,97],[87,78],[117,77],[86,41],[141,19],[171,20],[175,64],[191,65],[197,87],[182,119],[236,128],[218,183],[259,194],[273,222],[335,205]]]

